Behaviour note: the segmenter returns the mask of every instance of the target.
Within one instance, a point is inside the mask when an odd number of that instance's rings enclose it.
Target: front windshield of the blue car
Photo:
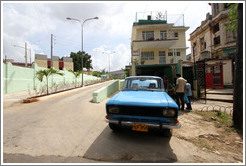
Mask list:
[[[127,78],[123,90],[156,90],[164,91],[162,79],[151,77]]]

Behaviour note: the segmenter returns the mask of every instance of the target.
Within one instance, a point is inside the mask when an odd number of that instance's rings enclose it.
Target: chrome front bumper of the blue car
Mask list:
[[[166,129],[177,129],[181,127],[181,124],[178,122],[176,124],[166,124],[166,123],[160,123],[160,124],[156,124],[156,123],[150,123],[150,122],[132,122],[132,121],[120,121],[120,120],[115,120],[115,119],[107,119],[105,118],[105,121],[107,123],[113,123],[116,125],[120,125],[120,126],[132,126],[133,123],[141,123],[141,124],[145,124],[148,125],[151,128],[166,128]]]

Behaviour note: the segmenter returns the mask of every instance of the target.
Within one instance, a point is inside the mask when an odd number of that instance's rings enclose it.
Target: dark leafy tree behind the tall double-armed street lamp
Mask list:
[[[70,53],[70,58],[73,58],[73,65],[74,65],[74,71],[82,71],[82,65],[81,65],[81,58],[82,54],[81,51],[74,53]],[[83,51],[83,67],[86,68],[87,70],[93,69],[92,67],[92,60],[91,60],[91,55],[85,53]]]

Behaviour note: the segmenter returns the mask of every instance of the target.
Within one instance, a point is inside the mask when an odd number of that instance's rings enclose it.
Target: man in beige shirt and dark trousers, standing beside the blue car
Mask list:
[[[181,77],[180,74],[176,74],[176,87],[175,87],[175,92],[174,94],[176,95],[176,103],[179,106],[180,109],[180,103],[179,99],[181,101],[181,110],[184,111],[184,92],[185,92],[185,85],[186,85],[186,80]]]

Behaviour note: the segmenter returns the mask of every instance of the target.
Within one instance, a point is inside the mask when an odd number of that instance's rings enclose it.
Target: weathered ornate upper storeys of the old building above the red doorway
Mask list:
[[[209,13],[190,34],[191,55],[195,61],[233,59],[236,53],[236,32],[226,30],[230,8],[226,3],[210,3]]]

